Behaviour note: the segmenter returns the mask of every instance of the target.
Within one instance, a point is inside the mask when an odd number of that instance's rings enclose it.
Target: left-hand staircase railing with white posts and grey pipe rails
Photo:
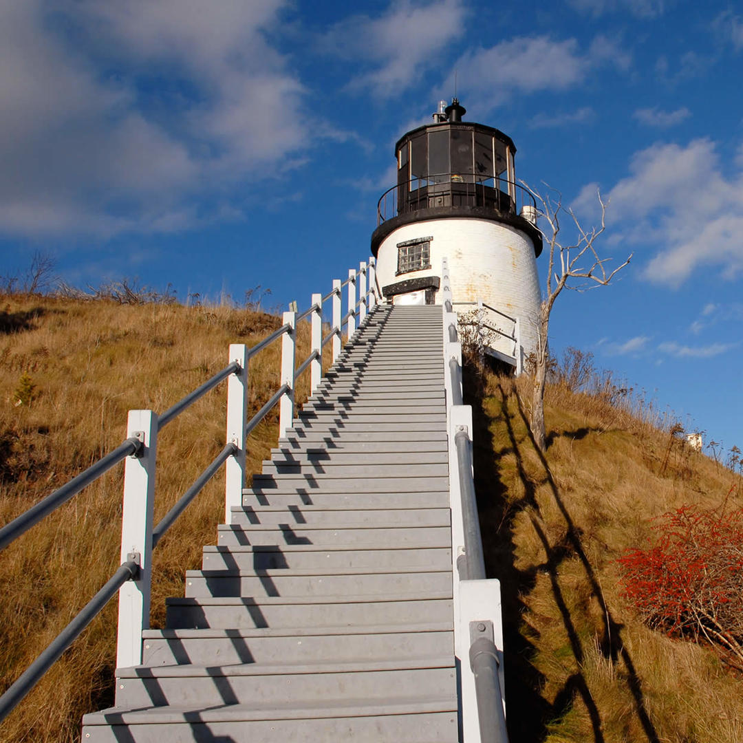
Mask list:
[[[369,289],[367,289],[369,285]],[[83,607],[77,616],[59,633],[47,649],[10,685],[0,697],[2,721],[33,688],[42,675],[100,613],[106,603],[119,594],[119,624],[117,666],[134,666],[142,661],[142,631],[149,626],[152,551],[166,531],[183,513],[204,485],[225,465],[225,521],[230,509],[242,501],[245,480],[245,449],[247,435],[279,403],[279,437],[291,427],[294,417],[296,380],[306,369],[311,371],[311,391],[322,376],[322,349],[332,342],[331,358],[341,351],[343,327],[350,338],[377,302],[374,259],[362,263],[358,270],[348,271],[348,279],[335,279],[332,291],[322,296],[313,294],[310,307],[297,315],[285,312],[282,326],[252,348],[230,345],[230,363],[213,377],[189,392],[162,415],[152,410],[130,410],[126,440],[87,470],[62,485],[51,495],[22,513],[0,529],[0,550],[17,539],[33,525],[68,502],[82,488],[91,484],[120,461],[124,464],[123,515],[121,529],[121,565],[106,585]],[[343,288],[347,288],[348,312],[342,316]],[[322,306],[331,300],[331,330],[322,337]],[[296,366],[296,323],[311,322],[311,353]],[[281,386],[270,400],[245,423],[247,414],[247,363],[276,340],[282,340]],[[201,473],[181,499],[153,525],[155,504],[155,466],[158,434],[196,400],[227,380],[227,442],[224,448]]]

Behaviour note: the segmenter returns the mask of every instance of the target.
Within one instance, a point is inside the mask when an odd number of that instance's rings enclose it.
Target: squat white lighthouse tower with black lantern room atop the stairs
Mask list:
[[[476,322],[491,357],[520,371],[536,349],[542,236],[533,195],[516,183],[513,140],[464,121],[454,98],[395,144],[398,182],[377,205],[371,254],[395,305],[441,303],[449,264],[454,309]]]

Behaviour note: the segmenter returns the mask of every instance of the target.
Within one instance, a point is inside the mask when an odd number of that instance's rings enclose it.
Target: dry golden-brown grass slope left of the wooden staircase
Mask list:
[[[227,365],[230,343],[253,345],[279,325],[272,315],[230,307],[2,296],[0,308],[0,524],[120,444],[128,409],[163,412]],[[308,337],[302,322],[298,364]],[[250,363],[249,416],[279,386],[280,345]],[[29,381],[30,403],[16,404]],[[298,386],[306,398],[308,373]],[[225,414],[223,383],[163,429],[156,521],[224,446]],[[248,473],[260,471],[277,429],[274,412],[253,432]],[[111,470],[0,553],[1,690],[117,568],[122,471]],[[165,598],[183,594],[184,570],[200,566],[201,547],[214,543],[223,515],[219,473],[155,552],[152,626],[162,626]],[[4,721],[0,741],[79,739],[82,713],[113,701],[115,624],[113,600]]]

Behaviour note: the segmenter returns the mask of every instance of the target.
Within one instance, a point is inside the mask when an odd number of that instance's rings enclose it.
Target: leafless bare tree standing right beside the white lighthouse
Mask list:
[[[539,230],[548,247],[548,270],[545,294],[542,297],[542,305],[539,308],[539,327],[537,328],[536,363],[534,364],[534,389],[531,404],[531,433],[540,450],[546,448],[545,434],[545,380],[547,378],[548,366],[548,330],[550,315],[555,300],[563,289],[585,291],[597,286],[606,286],[611,279],[617,275],[632,259],[632,254],[617,266],[609,270],[611,258],[601,258],[597,253],[594,243],[606,229],[606,203],[597,192],[601,207],[601,226],[591,227],[584,230],[573,210],[568,208],[567,213],[577,230],[574,244],[562,244],[560,236],[560,212],[562,207],[562,194],[548,186],[546,196],[531,189],[528,184],[522,184],[541,204],[540,216],[548,224],[548,230]],[[577,283],[576,283],[577,282]]]

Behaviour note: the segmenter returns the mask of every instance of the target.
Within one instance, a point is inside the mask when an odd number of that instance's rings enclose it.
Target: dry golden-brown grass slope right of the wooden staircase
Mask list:
[[[740,679],[712,649],[646,629],[626,609],[616,563],[652,536],[654,516],[719,504],[735,476],[653,425],[652,409],[565,384],[548,389],[542,458],[519,401],[528,386],[491,376],[472,400],[483,541],[504,592],[511,739],[740,742]]]

